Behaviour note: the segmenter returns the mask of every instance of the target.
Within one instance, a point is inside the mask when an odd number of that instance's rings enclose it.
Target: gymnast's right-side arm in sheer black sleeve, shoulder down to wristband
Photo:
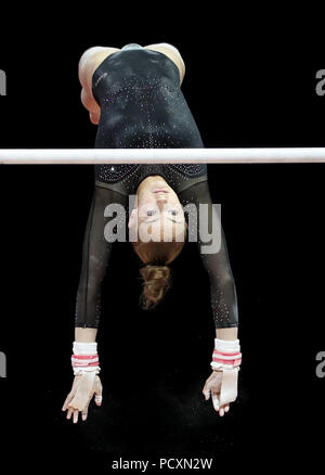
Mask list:
[[[197,217],[191,226],[188,215],[188,240],[195,240],[200,252],[203,265],[208,273],[210,282],[210,297],[213,321],[216,326],[216,337],[220,339],[236,339],[238,326],[238,309],[235,282],[230,265],[226,243],[219,214],[212,206],[208,181],[199,182],[184,190],[180,194],[183,206],[194,203],[197,209]],[[208,219],[204,219],[203,208],[199,204],[208,205]],[[200,216],[202,215],[202,216]],[[203,229],[199,230],[200,222]],[[214,220],[214,227],[213,227]],[[207,224],[208,221],[208,224]],[[200,232],[202,231],[202,232]],[[205,243],[204,232],[212,234],[210,245]],[[220,245],[221,243],[221,245]],[[219,246],[218,246],[219,244]],[[217,249],[217,247],[219,249]],[[217,249],[218,252],[212,252]]]

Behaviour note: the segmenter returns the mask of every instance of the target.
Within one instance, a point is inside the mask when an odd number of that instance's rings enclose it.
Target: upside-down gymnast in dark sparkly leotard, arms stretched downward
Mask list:
[[[98,125],[95,147],[204,147],[195,120],[181,92],[185,65],[180,52],[168,43],[141,47],[130,43],[121,49],[94,47],[79,61],[81,102],[90,120]],[[207,204],[216,217],[207,176],[207,165],[95,165],[94,193],[87,222],[82,269],[77,292],[75,342],[72,363],[73,388],[62,410],[67,419],[84,421],[89,403],[102,403],[96,332],[101,313],[101,284],[113,242],[105,235],[113,217],[109,204],[130,209],[129,196],[136,196],[128,231],[136,239],[132,246],[142,262],[141,305],[155,307],[168,288],[170,264],[193,232],[185,206]],[[131,210],[131,209],[130,209]],[[108,216],[109,215],[109,216]],[[127,215],[129,216],[129,214]],[[141,228],[142,227],[142,228]],[[143,227],[150,240],[140,235]],[[209,229],[210,224],[209,224]],[[237,397],[240,347],[237,338],[237,298],[224,234],[220,224],[218,252],[204,253],[197,235],[202,260],[209,275],[212,314],[216,325],[212,373],[203,394],[219,415]],[[162,236],[164,234],[164,236]],[[162,238],[161,238],[162,236]]]

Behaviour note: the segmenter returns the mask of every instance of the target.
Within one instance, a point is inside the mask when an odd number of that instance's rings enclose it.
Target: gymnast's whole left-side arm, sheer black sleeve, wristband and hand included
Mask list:
[[[77,291],[72,359],[75,378],[62,408],[63,411],[67,410],[67,419],[74,414],[74,423],[78,422],[79,411],[82,420],[87,419],[93,395],[95,403],[102,403],[102,384],[98,375],[100,361],[95,343],[101,314],[101,287],[114,241],[126,241],[126,202],[127,196],[103,187],[94,187],[83,238],[82,267]]]

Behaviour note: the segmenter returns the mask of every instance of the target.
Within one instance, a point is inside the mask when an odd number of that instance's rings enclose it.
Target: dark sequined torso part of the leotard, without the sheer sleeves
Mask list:
[[[95,147],[204,147],[180,89],[178,67],[162,53],[127,44],[94,72],[93,95],[101,106]],[[207,166],[95,166],[96,184],[106,183],[106,188],[123,194],[134,193],[150,175],[162,176],[176,192],[181,192],[197,179],[202,181]],[[112,183],[115,185],[109,187]]]

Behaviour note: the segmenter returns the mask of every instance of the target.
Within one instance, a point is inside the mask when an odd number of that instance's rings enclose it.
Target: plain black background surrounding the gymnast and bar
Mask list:
[[[246,13],[246,16],[244,16]],[[170,42],[207,147],[325,146],[322,31],[272,11],[47,4],[2,22],[0,147],[92,147],[78,61],[92,46]],[[296,13],[296,12],[292,12]],[[303,14],[303,12],[302,12]],[[243,15],[243,16],[242,16]],[[165,301],[141,312],[139,269],[119,244],[103,286],[104,402],[66,421],[75,296],[93,190],[91,165],[1,167],[1,457],[13,466],[108,470],[114,459],[213,458],[234,467],[320,459],[325,380],[323,164],[210,165],[236,281],[239,396],[219,418],[202,388],[214,330],[207,277],[188,245]],[[262,455],[262,457],[261,457]]]

